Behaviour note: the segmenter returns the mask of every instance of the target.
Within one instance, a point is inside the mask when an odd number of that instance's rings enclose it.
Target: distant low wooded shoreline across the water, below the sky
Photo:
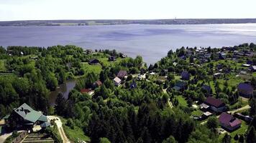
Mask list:
[[[138,19],[0,21],[0,26],[91,26],[116,24],[248,24],[256,19]]]

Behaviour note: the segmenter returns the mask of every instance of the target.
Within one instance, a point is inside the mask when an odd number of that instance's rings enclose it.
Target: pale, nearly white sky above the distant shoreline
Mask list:
[[[0,0],[0,21],[256,18],[255,0]]]

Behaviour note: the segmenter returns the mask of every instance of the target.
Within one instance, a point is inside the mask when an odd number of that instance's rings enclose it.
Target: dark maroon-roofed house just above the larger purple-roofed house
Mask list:
[[[226,104],[220,99],[215,99],[214,97],[207,97],[203,104],[200,105],[203,111],[211,109],[214,112],[224,112],[226,109]]]

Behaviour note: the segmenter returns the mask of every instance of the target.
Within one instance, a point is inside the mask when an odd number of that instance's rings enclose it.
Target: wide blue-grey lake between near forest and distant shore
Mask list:
[[[74,44],[141,55],[147,64],[180,46],[234,46],[256,43],[256,24],[0,26],[1,46]]]

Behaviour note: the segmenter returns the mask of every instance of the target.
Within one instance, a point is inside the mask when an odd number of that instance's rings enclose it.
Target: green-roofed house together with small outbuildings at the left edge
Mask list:
[[[17,129],[33,131],[34,127],[40,129],[49,127],[50,122],[42,112],[35,111],[26,103],[12,110],[12,113],[1,119],[0,134],[4,134],[6,124],[14,124]]]

